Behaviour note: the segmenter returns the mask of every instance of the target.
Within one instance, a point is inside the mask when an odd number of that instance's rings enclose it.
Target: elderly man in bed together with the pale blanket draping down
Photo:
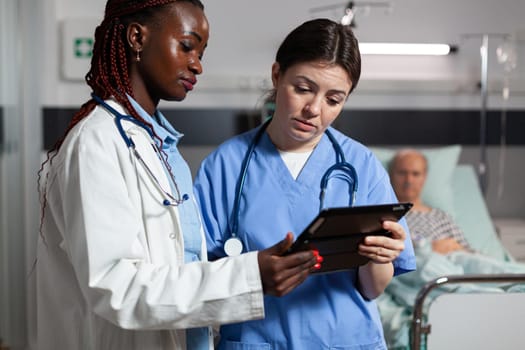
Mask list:
[[[525,273],[525,264],[506,261],[477,252],[469,246],[463,231],[452,217],[438,208],[426,205],[421,195],[427,178],[425,156],[415,149],[398,151],[389,163],[392,186],[399,201],[414,203],[406,215],[417,270],[392,280],[378,299],[388,348],[408,349],[412,308],[420,289],[441,276],[465,274]],[[523,291],[520,285],[445,285],[432,292]],[[431,298],[427,299],[426,305]]]

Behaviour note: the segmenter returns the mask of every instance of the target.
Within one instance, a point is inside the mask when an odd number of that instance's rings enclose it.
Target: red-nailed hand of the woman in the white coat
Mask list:
[[[259,272],[265,294],[283,296],[301,284],[309,272],[319,266],[322,258],[313,251],[303,251],[290,255],[283,254],[293,243],[293,234],[276,245],[258,253]]]

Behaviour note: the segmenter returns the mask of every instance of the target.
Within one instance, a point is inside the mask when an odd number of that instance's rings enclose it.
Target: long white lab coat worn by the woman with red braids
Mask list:
[[[149,135],[123,127],[170,188]],[[162,205],[104,108],[71,130],[51,164],[36,264],[39,350],[185,349],[185,328],[264,317],[256,253],[184,264],[177,207]]]

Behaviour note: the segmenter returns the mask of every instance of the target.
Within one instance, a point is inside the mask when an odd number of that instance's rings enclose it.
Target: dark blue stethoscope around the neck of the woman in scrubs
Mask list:
[[[239,206],[241,202],[241,194],[242,190],[244,188],[244,182],[246,180],[246,174],[248,172],[248,165],[250,164],[250,160],[253,155],[253,151],[255,150],[255,146],[257,146],[257,143],[259,143],[259,140],[261,139],[262,135],[264,134],[266,128],[268,127],[268,124],[270,124],[271,119],[266,121],[257,131],[255,134],[255,137],[252,140],[252,143],[250,144],[250,147],[246,151],[246,154],[244,156],[243,162],[241,164],[241,172],[239,174],[239,178],[237,180],[237,187],[235,189],[235,200],[233,203],[233,210],[231,215],[231,233],[230,238],[226,240],[224,243],[224,252],[228,256],[235,256],[242,253],[243,250],[243,243],[241,238],[237,235],[237,230],[239,228]],[[348,163],[345,160],[345,156],[343,154],[343,150],[341,149],[341,146],[335,139],[334,135],[330,132],[330,130],[325,131],[326,136],[328,136],[328,139],[330,139],[330,142],[332,143],[332,146],[334,147],[335,153],[336,153],[336,162],[334,165],[332,165],[330,168],[326,170],[326,172],[323,174],[323,177],[321,178],[321,192],[319,194],[319,211],[323,209],[324,204],[324,197],[326,194],[326,189],[328,187],[328,180],[332,173],[334,171],[340,171],[345,175],[346,181],[349,184],[350,189],[350,206],[352,206],[355,202],[356,193],[357,193],[357,173],[355,171],[355,168],[352,166],[352,164]]]

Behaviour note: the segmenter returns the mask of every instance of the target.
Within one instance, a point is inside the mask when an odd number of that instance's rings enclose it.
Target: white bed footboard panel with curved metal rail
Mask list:
[[[519,349],[525,330],[525,293],[444,293],[429,306],[430,292],[445,284],[525,283],[525,274],[444,276],[418,293],[411,349]]]

